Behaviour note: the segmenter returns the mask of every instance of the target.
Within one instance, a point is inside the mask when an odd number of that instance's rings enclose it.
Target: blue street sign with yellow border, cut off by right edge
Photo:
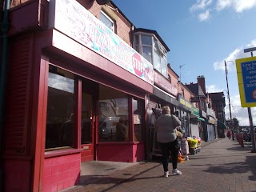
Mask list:
[[[256,57],[236,61],[242,107],[256,106]]]

